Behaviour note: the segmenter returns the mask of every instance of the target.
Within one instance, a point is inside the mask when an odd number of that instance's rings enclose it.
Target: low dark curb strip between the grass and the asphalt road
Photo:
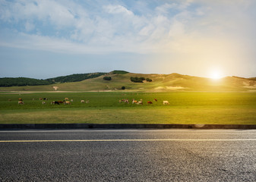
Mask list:
[[[256,129],[256,124],[0,124],[0,130],[26,129]]]

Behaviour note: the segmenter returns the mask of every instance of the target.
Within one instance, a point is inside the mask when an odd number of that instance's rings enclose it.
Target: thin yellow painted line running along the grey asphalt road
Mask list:
[[[46,142],[144,142],[144,141],[256,141],[256,139],[116,139],[116,140],[0,140],[0,143]]]

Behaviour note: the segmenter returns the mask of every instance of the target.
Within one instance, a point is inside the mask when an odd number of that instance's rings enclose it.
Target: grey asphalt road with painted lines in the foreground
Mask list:
[[[256,130],[2,130],[0,181],[256,181]]]

